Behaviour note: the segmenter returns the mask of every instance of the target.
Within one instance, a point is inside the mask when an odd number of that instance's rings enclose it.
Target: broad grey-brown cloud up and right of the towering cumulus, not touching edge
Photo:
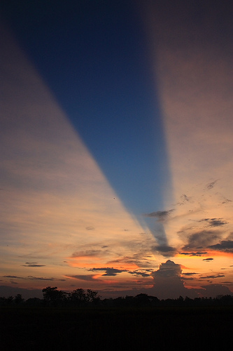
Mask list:
[[[220,238],[220,233],[212,230],[202,230],[200,232],[195,232],[188,237],[188,244],[183,246],[185,249],[202,249],[209,247],[210,243],[217,241]]]

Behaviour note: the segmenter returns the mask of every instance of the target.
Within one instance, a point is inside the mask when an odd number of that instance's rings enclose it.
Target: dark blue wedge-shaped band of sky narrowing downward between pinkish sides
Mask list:
[[[135,1],[11,1],[3,16],[129,211],[162,209],[162,115]]]

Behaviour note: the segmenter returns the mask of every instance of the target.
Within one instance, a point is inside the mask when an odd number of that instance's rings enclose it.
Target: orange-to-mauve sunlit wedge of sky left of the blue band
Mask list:
[[[20,48],[1,32],[3,284],[55,281],[67,288],[62,278],[88,275],[85,267],[136,253],[140,262],[148,251],[141,244],[145,228],[126,211]]]

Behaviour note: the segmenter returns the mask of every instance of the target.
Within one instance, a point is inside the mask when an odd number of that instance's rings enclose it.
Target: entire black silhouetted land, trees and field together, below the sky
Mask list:
[[[43,298],[0,298],[1,350],[227,350],[233,296],[104,298],[47,286]]]

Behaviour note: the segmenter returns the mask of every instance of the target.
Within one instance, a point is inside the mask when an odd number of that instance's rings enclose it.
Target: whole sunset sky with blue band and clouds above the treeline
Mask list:
[[[233,293],[232,10],[2,1],[0,296]]]

